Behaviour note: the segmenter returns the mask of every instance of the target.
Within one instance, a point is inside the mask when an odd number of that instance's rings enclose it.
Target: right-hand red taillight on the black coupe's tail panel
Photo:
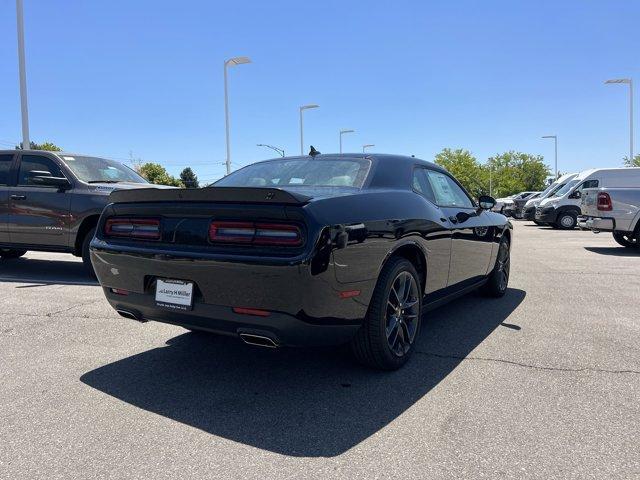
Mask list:
[[[211,222],[209,240],[216,243],[243,243],[297,247],[302,232],[296,225],[254,222]]]

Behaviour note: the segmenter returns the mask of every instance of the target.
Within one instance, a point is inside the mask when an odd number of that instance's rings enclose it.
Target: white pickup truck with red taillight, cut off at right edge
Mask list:
[[[611,232],[620,245],[640,247],[640,181],[635,187],[585,188],[581,200],[582,228]]]

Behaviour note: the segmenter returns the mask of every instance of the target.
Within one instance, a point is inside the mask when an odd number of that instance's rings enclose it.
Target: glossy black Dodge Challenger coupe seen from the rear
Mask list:
[[[265,347],[350,343],[380,369],[421,314],[504,295],[512,227],[446,170],[397,155],[278,158],[194,190],[111,194],[91,260],[123,316]]]

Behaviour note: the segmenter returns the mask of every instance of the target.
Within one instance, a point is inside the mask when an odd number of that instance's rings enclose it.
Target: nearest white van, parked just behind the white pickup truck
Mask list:
[[[536,207],[537,222],[570,230],[578,222],[584,188],[633,187],[640,184],[640,168],[594,168],[580,172]]]

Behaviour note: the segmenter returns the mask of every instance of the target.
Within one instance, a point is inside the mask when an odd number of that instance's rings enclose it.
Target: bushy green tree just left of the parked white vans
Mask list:
[[[492,193],[504,197],[522,191],[543,190],[551,171],[541,155],[509,151],[490,157]]]

